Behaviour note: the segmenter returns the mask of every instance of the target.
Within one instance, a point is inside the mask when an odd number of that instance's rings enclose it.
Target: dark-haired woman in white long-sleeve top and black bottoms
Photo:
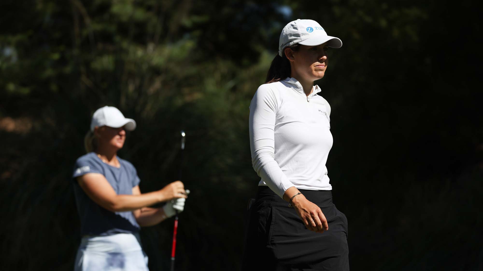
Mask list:
[[[313,85],[324,77],[328,47],[342,42],[313,20],[296,20],[279,45],[250,105],[252,164],[261,180],[243,270],[347,271],[347,218],[332,203],[326,167],[330,106]]]

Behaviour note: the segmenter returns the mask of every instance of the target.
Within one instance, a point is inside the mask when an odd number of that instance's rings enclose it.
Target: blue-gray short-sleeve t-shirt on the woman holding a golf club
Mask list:
[[[77,210],[81,220],[81,236],[134,233],[140,230],[132,211],[111,212],[92,201],[79,186],[76,177],[87,173],[104,175],[116,194],[132,195],[132,188],[140,182],[136,168],[128,161],[117,157],[119,168],[106,164],[94,152],[77,159],[72,178]]]

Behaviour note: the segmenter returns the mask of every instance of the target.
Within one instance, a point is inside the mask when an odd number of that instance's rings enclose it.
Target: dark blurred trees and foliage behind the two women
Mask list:
[[[192,190],[177,270],[239,270],[243,214],[259,180],[248,106],[284,25],[309,18],[343,42],[316,83],[332,107],[327,168],[349,219],[351,268],[482,270],[477,5],[1,1],[1,269],[72,269],[72,167],[92,113],[110,105],[138,122],[120,156],[136,166],[142,192],[180,167]],[[141,231],[150,270],[169,267],[172,224]]]

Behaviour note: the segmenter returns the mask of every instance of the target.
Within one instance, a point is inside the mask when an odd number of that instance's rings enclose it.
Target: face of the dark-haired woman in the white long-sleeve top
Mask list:
[[[291,57],[290,54],[288,56],[294,75],[307,81],[324,77],[327,69],[327,50],[327,45],[323,43],[317,46],[300,45],[298,51],[292,51]]]

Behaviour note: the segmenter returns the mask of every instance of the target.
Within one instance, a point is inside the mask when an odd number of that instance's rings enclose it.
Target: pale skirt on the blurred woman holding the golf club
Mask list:
[[[74,271],[148,271],[139,233],[83,237]]]

